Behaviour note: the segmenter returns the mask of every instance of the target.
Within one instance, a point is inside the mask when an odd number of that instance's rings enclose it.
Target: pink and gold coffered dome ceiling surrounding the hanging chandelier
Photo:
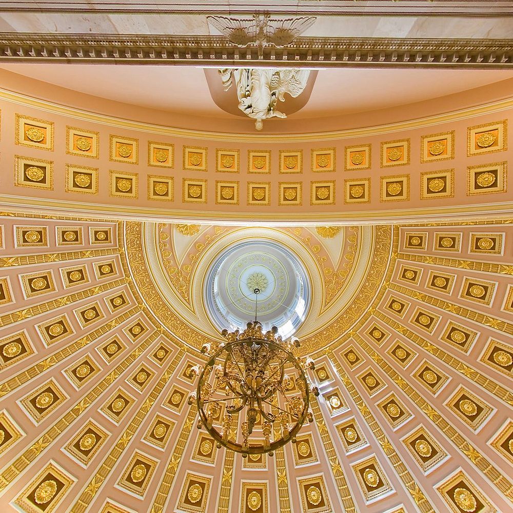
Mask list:
[[[4,509],[508,510],[510,220],[2,220]],[[187,370],[218,329],[204,295],[239,300],[248,282],[271,317],[266,287],[303,290],[295,334],[321,396],[295,445],[243,460],[194,427]]]

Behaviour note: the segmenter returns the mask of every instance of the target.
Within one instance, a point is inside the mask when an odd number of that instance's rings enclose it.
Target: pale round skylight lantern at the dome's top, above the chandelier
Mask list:
[[[254,289],[258,288],[258,302]],[[220,329],[243,328],[255,318],[290,337],[306,317],[310,285],[304,266],[286,247],[265,240],[226,248],[207,271],[205,305]]]

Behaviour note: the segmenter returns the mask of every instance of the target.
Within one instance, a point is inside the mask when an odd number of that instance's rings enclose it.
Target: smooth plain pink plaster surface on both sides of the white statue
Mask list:
[[[63,64],[2,64],[0,67],[134,106],[194,116],[233,117],[212,101],[203,68]],[[308,103],[290,118],[311,119],[394,108],[511,77],[513,71],[502,70],[320,70]],[[287,112],[285,107],[283,110]]]

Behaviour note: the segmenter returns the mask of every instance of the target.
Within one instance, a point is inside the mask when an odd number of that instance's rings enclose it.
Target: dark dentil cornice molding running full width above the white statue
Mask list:
[[[511,40],[298,37],[285,48],[233,46],[223,36],[4,32],[0,62],[310,68],[513,68]]]

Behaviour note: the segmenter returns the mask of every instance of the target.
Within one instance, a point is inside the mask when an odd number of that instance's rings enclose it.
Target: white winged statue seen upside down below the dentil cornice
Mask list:
[[[239,108],[255,120],[257,130],[270,117],[287,117],[276,109],[278,100],[284,102],[285,93],[299,96],[310,75],[310,70],[297,68],[225,68],[219,72],[225,91],[235,84]]]

